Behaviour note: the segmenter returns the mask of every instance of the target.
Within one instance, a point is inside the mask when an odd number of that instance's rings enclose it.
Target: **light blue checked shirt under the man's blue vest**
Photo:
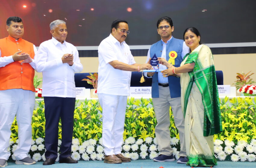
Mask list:
[[[173,38],[173,36],[167,41],[167,43],[168,43],[172,38]],[[167,43],[164,43],[164,41],[163,41],[162,39],[161,39],[161,41],[162,41],[162,44],[163,44],[163,49],[162,49],[161,58],[166,59],[166,44],[167,44]],[[185,41],[184,41],[184,42],[183,42],[183,46],[182,46],[181,58],[183,59],[183,57],[184,57],[187,53],[189,53],[189,47],[186,45],[186,43],[185,43]],[[148,50],[148,57],[147,57],[146,63],[148,62],[149,58],[150,58],[150,49]],[[166,59],[166,60],[167,60],[167,59]],[[168,61],[168,60],[167,60],[167,61]],[[162,69],[162,70],[167,69],[167,67],[166,67],[165,65],[162,65],[162,64],[159,64],[158,67],[159,67],[159,69]],[[151,77],[152,77],[152,76],[150,76],[150,77],[147,76],[147,73],[146,73],[146,72],[144,72],[144,76],[146,76],[146,77],[148,77],[148,78],[151,78]],[[168,83],[168,78],[164,77],[164,76],[163,76],[163,73],[158,72],[158,82],[159,82],[159,83],[163,83],[163,84]]]

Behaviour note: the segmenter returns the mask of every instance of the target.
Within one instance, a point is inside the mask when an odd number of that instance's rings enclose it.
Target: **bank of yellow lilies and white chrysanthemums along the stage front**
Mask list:
[[[229,103],[230,105],[229,105]],[[45,160],[45,117],[44,101],[37,102],[38,106],[32,117],[32,146],[30,156],[36,160]],[[214,153],[219,160],[230,157],[232,161],[256,160],[256,97],[254,100],[246,98],[225,98],[220,102],[223,132],[214,135]],[[179,133],[176,130],[173,115],[170,110],[171,147],[175,158],[179,158]],[[127,100],[126,118],[123,133],[122,153],[132,160],[139,158],[153,159],[159,153],[155,138],[156,119],[152,106],[152,99]],[[16,160],[13,152],[17,148],[18,126],[16,119],[11,127],[10,147],[11,157]],[[84,101],[74,111],[74,132],[72,141],[72,158],[99,160],[104,158],[102,146],[102,108],[98,101]],[[61,145],[61,122],[59,123],[58,150]],[[56,161],[58,161],[57,158]]]

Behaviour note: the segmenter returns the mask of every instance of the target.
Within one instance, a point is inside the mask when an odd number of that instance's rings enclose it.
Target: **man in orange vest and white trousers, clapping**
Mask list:
[[[31,147],[31,118],[35,107],[33,78],[35,45],[23,40],[23,22],[17,16],[6,21],[9,36],[0,39],[0,167],[7,166],[11,125],[16,116],[19,145],[16,164],[36,164],[28,157]]]

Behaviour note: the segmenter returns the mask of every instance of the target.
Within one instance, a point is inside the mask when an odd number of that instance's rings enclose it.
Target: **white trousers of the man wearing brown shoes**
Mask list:
[[[121,153],[127,96],[98,94],[102,107],[102,142],[105,155]]]

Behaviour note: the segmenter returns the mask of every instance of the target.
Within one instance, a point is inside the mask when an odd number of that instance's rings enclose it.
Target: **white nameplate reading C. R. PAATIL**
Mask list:
[[[151,98],[151,87],[130,87],[130,97]]]

